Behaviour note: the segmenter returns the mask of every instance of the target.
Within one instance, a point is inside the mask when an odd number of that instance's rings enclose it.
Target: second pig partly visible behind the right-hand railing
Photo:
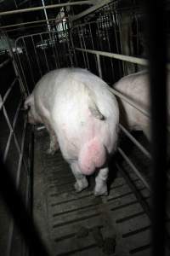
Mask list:
[[[150,114],[150,84],[149,73],[143,70],[138,73],[129,74],[120,79],[113,88],[127,96]],[[170,73],[167,73],[167,95],[170,94]],[[121,98],[118,98],[120,108],[120,122],[130,131],[143,131],[145,137],[150,141],[150,118],[141,113]],[[168,116],[170,102],[168,102]]]

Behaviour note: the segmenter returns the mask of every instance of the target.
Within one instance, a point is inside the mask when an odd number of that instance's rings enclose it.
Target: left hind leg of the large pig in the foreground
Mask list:
[[[77,182],[74,184],[76,191],[81,192],[82,189],[86,189],[88,187],[88,180],[86,176],[82,174],[77,162],[71,164],[71,171],[77,180]]]

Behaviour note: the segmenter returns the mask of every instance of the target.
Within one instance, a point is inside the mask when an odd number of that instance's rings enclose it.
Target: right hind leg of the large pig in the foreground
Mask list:
[[[97,177],[95,178],[94,195],[108,195],[107,191],[107,177],[109,174],[108,167],[100,168]]]

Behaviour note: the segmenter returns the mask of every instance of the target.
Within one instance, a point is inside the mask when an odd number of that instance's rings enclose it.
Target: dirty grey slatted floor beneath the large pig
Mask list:
[[[46,131],[36,131],[34,215],[51,255],[150,255],[150,219],[124,177],[116,174],[109,196],[94,197],[94,177],[89,188],[77,194],[60,152],[46,154],[48,140]],[[130,177],[149,201],[139,178],[132,173]]]

